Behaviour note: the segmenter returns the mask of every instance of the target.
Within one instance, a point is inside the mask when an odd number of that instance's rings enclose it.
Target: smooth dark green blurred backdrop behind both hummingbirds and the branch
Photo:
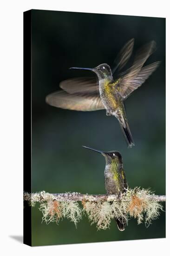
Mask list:
[[[45,103],[59,82],[92,76],[69,67],[113,64],[118,51],[131,38],[136,50],[150,40],[157,51],[146,64],[160,67],[126,101],[135,147],[128,149],[116,118],[104,110],[76,112]],[[165,19],[93,13],[32,10],[32,191],[105,194],[102,155],[81,145],[118,150],[130,187],[151,188],[165,194]],[[164,205],[165,207],[165,205]],[[130,220],[124,232],[114,221],[97,231],[86,216],[78,223],[63,219],[41,223],[38,205],[32,209],[33,245],[90,243],[165,237],[165,213],[148,229]]]

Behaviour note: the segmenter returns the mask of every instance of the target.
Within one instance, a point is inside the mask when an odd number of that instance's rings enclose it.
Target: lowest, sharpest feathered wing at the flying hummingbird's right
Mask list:
[[[142,67],[140,72],[136,74],[127,74],[119,81],[119,94],[126,99],[134,90],[140,87],[144,81],[157,69],[160,61]]]

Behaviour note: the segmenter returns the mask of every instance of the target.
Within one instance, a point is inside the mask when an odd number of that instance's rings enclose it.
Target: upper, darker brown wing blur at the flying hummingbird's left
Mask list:
[[[78,77],[62,81],[59,87],[69,94],[99,94],[98,79],[88,77]]]

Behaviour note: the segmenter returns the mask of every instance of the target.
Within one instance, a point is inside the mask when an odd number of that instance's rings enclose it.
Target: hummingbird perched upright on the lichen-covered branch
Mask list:
[[[118,198],[120,198],[121,194],[125,193],[128,187],[121,154],[118,151],[104,152],[86,146],[83,146],[83,148],[96,151],[105,156],[106,165],[104,175],[106,194],[118,195]],[[115,221],[117,222],[118,229],[124,231],[126,226],[125,218],[121,220],[115,219]]]

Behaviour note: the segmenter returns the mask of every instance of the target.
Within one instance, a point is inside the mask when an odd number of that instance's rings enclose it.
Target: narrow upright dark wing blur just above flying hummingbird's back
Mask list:
[[[118,56],[116,57],[114,63],[115,67],[112,70],[112,74],[116,71],[116,69],[121,70],[129,61],[134,46],[134,38],[129,40],[124,47],[121,49],[121,51],[118,53]]]

